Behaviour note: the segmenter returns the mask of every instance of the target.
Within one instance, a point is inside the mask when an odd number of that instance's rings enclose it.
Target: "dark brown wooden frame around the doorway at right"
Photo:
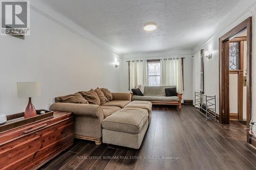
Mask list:
[[[229,62],[224,58],[224,43],[244,29],[247,29],[246,127],[247,142],[250,142],[251,139],[248,128],[251,119],[252,17],[248,17],[219,38],[219,122],[221,124],[229,124]]]

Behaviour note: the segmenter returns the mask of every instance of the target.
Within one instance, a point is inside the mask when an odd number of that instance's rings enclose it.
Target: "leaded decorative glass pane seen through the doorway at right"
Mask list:
[[[229,43],[229,70],[239,70],[239,42]]]

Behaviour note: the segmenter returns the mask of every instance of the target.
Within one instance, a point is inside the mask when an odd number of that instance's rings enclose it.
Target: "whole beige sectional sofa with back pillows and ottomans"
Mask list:
[[[99,90],[99,88],[97,88]],[[131,102],[131,93],[102,93],[91,89],[55,98],[50,110],[74,113],[74,137],[139,149],[151,122],[152,103]],[[101,96],[101,100],[97,97]],[[84,99],[83,99],[84,98]],[[64,103],[63,103],[64,102]],[[72,103],[74,102],[74,103]]]

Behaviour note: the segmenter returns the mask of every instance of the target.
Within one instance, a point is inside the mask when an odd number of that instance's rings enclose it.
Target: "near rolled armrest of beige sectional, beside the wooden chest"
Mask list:
[[[74,115],[78,116],[93,116],[103,119],[103,110],[98,105],[54,103],[50,106],[50,110],[73,112]]]

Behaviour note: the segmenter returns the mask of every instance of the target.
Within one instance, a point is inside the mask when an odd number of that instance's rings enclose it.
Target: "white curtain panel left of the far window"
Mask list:
[[[146,61],[133,61],[130,63],[130,87],[147,85]]]

